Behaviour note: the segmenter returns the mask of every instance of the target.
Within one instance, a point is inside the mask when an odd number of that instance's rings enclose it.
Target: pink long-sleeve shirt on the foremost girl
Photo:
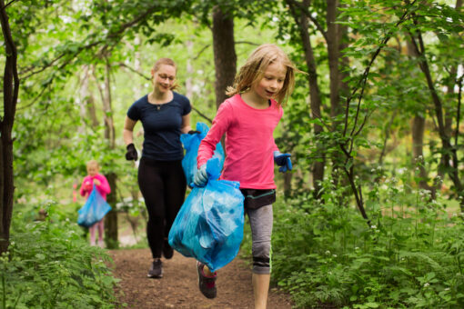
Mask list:
[[[226,134],[227,156],[220,179],[238,181],[242,189],[275,189],[273,153],[278,148],[273,133],[283,113],[274,100],[266,109],[257,109],[240,95],[228,98],[201,141],[197,166],[207,163]]]

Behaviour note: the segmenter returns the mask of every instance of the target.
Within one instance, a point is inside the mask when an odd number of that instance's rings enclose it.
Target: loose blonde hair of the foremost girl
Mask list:
[[[276,95],[277,104],[285,104],[295,86],[295,72],[301,71],[288,59],[287,54],[274,44],[260,45],[248,56],[247,62],[240,67],[236,75],[234,85],[227,87],[226,95],[232,96],[247,92],[252,85],[256,85],[263,78],[267,66],[274,63],[287,67],[284,85]]]

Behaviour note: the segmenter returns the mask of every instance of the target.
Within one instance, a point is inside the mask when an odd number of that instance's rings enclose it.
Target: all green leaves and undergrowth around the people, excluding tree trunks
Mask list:
[[[443,110],[449,119],[462,119],[464,109],[457,114],[458,95],[449,91],[456,84],[459,59],[464,58],[462,9],[454,9],[450,1],[340,1],[338,24],[348,27],[347,42],[343,42],[348,45],[343,50],[347,60],[343,65],[348,66],[341,71],[348,75],[343,82],[351,90],[363,81],[369,60],[381,47],[365,80],[362,100],[358,101],[357,92],[347,106],[348,134],[356,132],[368,117],[363,130],[353,137],[343,135],[344,115],[333,117],[330,111],[327,41],[320,33],[327,31],[328,3],[310,3],[308,33],[318,66],[322,115],[312,119],[308,76],[298,75],[276,135],[277,145],[292,153],[295,169],[293,198],[279,200],[275,207],[273,279],[293,294],[300,307],[464,306],[462,222],[459,215],[447,216],[454,208],[445,209],[447,204],[459,203],[451,200],[459,193],[433,201],[417,189],[420,177],[410,163],[410,118],[421,115],[436,120],[420,59],[409,55],[406,47],[409,34],[424,35],[425,56]],[[189,96],[197,110],[213,118],[215,68],[208,28],[213,6],[235,17],[237,67],[256,45],[276,42],[298,68],[308,71],[298,25],[287,4],[28,0],[8,5],[21,77],[13,133],[15,199],[35,204],[34,212],[45,208],[50,216],[45,222],[23,224],[21,219],[29,222],[35,213],[19,214],[21,206],[15,205],[14,244],[0,265],[4,306],[111,306],[114,296],[108,291],[115,281],[106,276],[106,265],[99,261],[106,262],[107,257],[87,247],[80,230],[66,223],[66,216],[75,221],[77,206],[70,204],[65,215],[49,199],[66,204],[71,185],[86,174],[86,161],[95,158],[102,164],[102,173],[117,174],[121,209],[130,215],[145,214],[142,203],[126,199],[137,189],[136,168],[124,159],[120,133],[128,106],[150,90],[146,76],[153,62],[162,56],[175,59],[179,91]],[[407,18],[398,23],[402,16]],[[135,69],[136,63],[140,65]],[[115,149],[103,138],[102,122],[90,123],[81,109],[86,97],[78,94],[82,71],[88,65],[95,73],[89,79],[89,93],[98,101],[106,64],[112,67]],[[339,103],[346,106],[347,98],[343,94]],[[100,105],[96,102],[98,119],[106,113]],[[192,124],[197,121],[205,122],[194,111]],[[429,120],[425,131],[423,166],[435,177],[443,152],[433,122]],[[324,127],[322,134],[314,135],[315,124]],[[141,140],[136,137],[137,148]],[[370,226],[352,205],[351,189],[340,177],[331,178],[339,171],[331,170],[330,164],[320,201],[313,199],[308,185],[312,164],[328,163],[340,154],[339,145],[351,142],[354,148],[343,164],[356,167],[355,182],[362,185]],[[462,165],[459,143],[456,149]],[[462,179],[464,170],[457,167]],[[244,252],[249,253],[249,244],[246,234]]]

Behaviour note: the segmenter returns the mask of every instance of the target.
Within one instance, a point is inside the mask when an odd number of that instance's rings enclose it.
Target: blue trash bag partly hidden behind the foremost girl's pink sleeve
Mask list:
[[[180,135],[180,141],[184,145],[186,149],[186,155],[182,160],[182,168],[184,169],[184,174],[186,174],[187,184],[191,186],[193,183],[193,179],[195,174],[197,173],[197,155],[198,155],[198,147],[201,143],[201,140],[207,136],[207,132],[209,128],[206,124],[197,123],[197,131],[199,134],[195,135]],[[222,170],[222,166],[224,165],[224,149],[222,148],[221,143],[217,143],[216,150],[213,154],[213,158],[219,159],[220,170]]]

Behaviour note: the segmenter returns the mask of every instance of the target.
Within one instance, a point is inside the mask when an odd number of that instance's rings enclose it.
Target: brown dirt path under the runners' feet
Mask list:
[[[220,269],[217,277],[217,298],[210,300],[198,290],[195,260],[175,253],[163,261],[164,277],[149,279],[149,249],[115,250],[108,252],[115,261],[114,275],[121,279],[116,291],[126,308],[253,308],[251,271],[236,258]],[[122,292],[122,293],[121,293]],[[267,308],[291,308],[287,294],[271,288]]]

